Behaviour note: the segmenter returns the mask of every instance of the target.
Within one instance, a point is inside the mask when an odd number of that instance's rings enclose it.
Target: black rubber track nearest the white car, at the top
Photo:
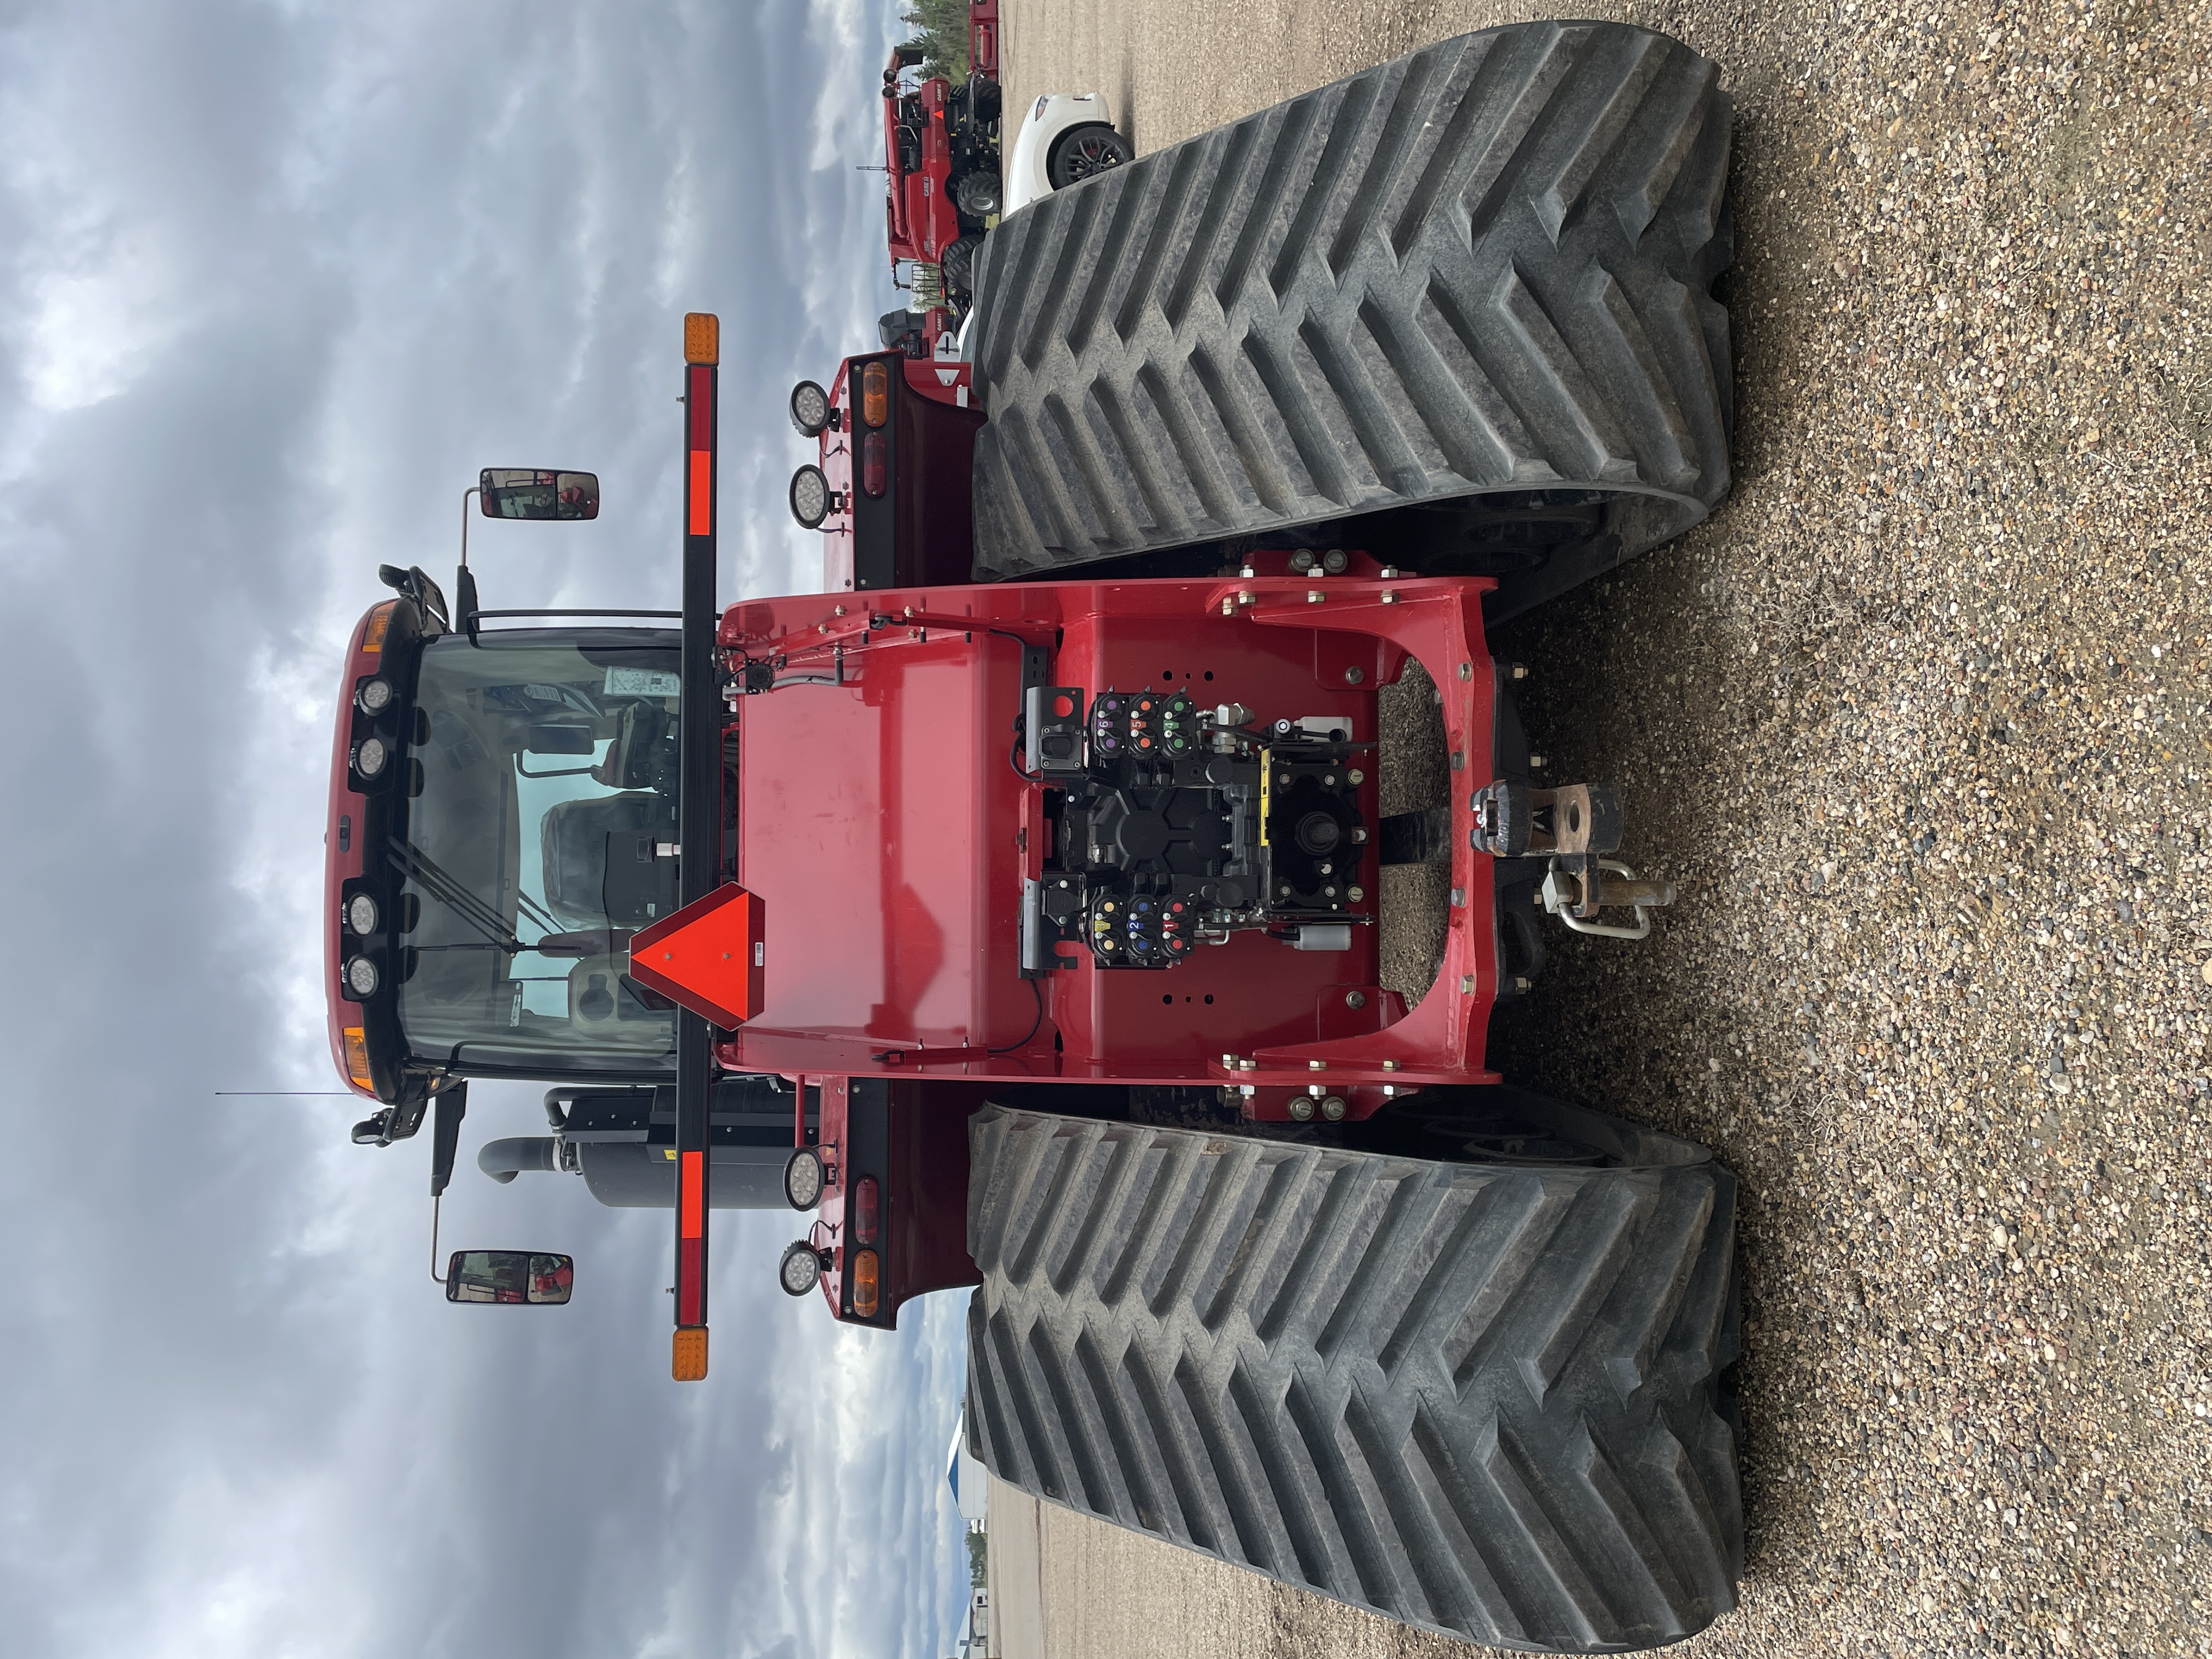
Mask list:
[[[978,575],[1480,491],[1728,491],[1730,100],[1606,22],[1444,40],[1013,215]]]

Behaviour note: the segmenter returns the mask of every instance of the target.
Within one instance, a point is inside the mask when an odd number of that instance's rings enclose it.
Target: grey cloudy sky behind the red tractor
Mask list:
[[[0,1630],[44,1655],[940,1655],[960,1298],[841,1334],[717,1223],[714,1376],[668,1223],[495,1188],[447,1241],[582,1259],[560,1314],[425,1274],[429,1137],[345,1139],[319,971],[345,630],[675,604],[681,314],[723,319],[728,591],[812,582],[781,405],[891,303],[894,0],[0,0],[0,580],[15,710],[0,1159]]]

